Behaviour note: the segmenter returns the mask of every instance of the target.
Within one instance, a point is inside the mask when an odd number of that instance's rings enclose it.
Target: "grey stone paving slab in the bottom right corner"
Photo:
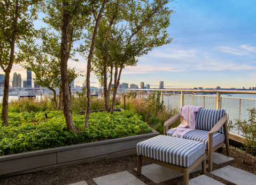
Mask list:
[[[254,185],[256,183],[256,175],[230,165],[211,173],[238,185]]]

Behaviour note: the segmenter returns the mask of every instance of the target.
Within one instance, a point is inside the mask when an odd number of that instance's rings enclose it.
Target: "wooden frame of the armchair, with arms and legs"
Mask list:
[[[166,134],[166,131],[168,130],[169,125],[173,124],[180,117],[181,117],[180,113],[177,113],[165,122],[164,134]],[[214,125],[214,127],[208,132],[208,150],[206,150],[205,153],[208,155],[208,171],[209,172],[212,172],[212,155],[216,149],[218,149],[218,148],[222,147],[224,144],[226,144],[227,155],[228,156],[230,155],[227,122],[228,122],[228,116],[227,116],[227,113],[225,113],[221,117],[221,119]],[[222,126],[224,126],[225,140],[213,148],[213,134],[218,132]]]

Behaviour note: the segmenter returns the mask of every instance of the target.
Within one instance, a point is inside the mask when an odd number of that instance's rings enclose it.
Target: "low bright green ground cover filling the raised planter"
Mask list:
[[[73,121],[80,132],[78,135],[67,130],[61,111],[9,112],[8,116],[9,125],[0,124],[0,155],[152,132],[141,116],[131,111],[91,113],[89,127],[84,131],[84,115],[74,112]]]

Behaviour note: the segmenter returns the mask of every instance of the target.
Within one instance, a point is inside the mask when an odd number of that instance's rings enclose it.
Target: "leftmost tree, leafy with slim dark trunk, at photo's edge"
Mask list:
[[[8,124],[9,80],[13,64],[22,61],[22,54],[15,53],[15,46],[33,34],[36,19],[34,5],[37,0],[3,0],[0,2],[0,64],[5,73],[1,120]]]

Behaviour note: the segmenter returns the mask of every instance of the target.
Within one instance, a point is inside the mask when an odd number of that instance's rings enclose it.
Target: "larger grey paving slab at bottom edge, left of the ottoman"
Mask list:
[[[92,180],[98,185],[146,185],[127,171],[100,176]]]

